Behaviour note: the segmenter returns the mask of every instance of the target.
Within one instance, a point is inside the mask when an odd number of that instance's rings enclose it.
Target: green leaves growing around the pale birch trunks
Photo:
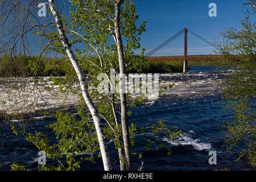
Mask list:
[[[101,125],[104,128],[105,138],[114,140],[115,148],[118,149],[119,160],[121,163],[125,163],[125,158],[122,158],[123,142],[122,126],[119,121],[119,93],[99,93],[96,90],[102,81],[98,79],[98,75],[104,73],[110,80],[112,76],[111,69],[114,69],[115,75],[119,72],[117,46],[113,33],[114,23],[111,20],[111,16],[114,15],[114,4],[112,1],[71,0],[70,2],[73,8],[70,9],[71,15],[69,19],[63,19],[63,22],[65,22],[63,28],[67,34],[71,34],[69,37],[69,44],[71,46],[75,46],[77,43],[83,44],[84,46],[82,49],[76,49],[75,54],[77,60],[82,71],[86,74],[86,78],[89,80],[88,87],[92,88],[89,89],[90,97],[94,101],[98,114],[102,119]],[[138,18],[139,16],[135,12],[133,1],[124,1],[121,8],[120,29],[126,43],[126,46],[123,46],[126,73],[141,73],[146,69],[146,64],[144,64],[146,60],[143,55],[144,49],[142,50],[141,56],[134,55],[134,50],[140,47],[140,35],[143,31],[146,31],[146,22],[142,22],[137,27],[135,22]],[[35,32],[35,34],[38,33]],[[40,34],[44,38],[51,40],[49,49],[65,55],[57,32],[41,32]],[[35,144],[39,150],[46,152],[47,158],[55,159],[58,162],[57,166],[40,166],[40,170],[75,170],[80,168],[81,160],[94,162],[94,154],[100,150],[96,131],[94,130],[93,122],[91,122],[92,115],[90,115],[88,108],[85,106],[81,92],[75,89],[75,84],[78,84],[78,79],[73,69],[69,69],[65,73],[65,77],[53,78],[52,86],[59,85],[60,92],[72,92],[80,98],[80,104],[77,106],[76,113],[57,111],[55,114],[51,114],[51,117],[55,118],[56,122],[47,127],[55,131],[55,143],[49,143],[46,134],[27,134],[24,130],[22,132],[23,135],[26,135],[26,139],[29,142]],[[117,80],[113,84],[113,86],[116,86],[118,84]],[[129,97],[129,94],[127,94],[129,109],[143,104],[144,101],[147,101],[145,95],[138,96],[133,101]],[[129,114],[131,114],[131,111]],[[131,146],[135,145],[137,130],[136,123],[130,123],[129,134]],[[171,140],[180,134],[180,131],[168,129],[161,122],[147,130],[150,130],[154,134],[162,132],[167,137],[170,137]],[[13,128],[13,131],[18,134],[17,129]],[[76,161],[76,156],[80,153],[92,155]],[[98,156],[100,156],[100,152]],[[63,163],[63,158],[65,158],[65,163]]]

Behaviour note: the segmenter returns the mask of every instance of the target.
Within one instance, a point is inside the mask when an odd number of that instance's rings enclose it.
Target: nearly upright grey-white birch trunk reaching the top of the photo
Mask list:
[[[118,52],[118,61],[119,61],[119,70],[121,75],[125,75],[125,57],[123,56],[123,44],[121,38],[121,32],[119,28],[120,21],[120,7],[123,3],[123,0],[119,0],[115,2],[115,19],[114,19],[114,30],[115,37],[117,40],[117,52]],[[124,77],[119,78],[119,83],[123,82],[122,79]],[[129,134],[129,126],[128,126],[128,118],[127,118],[127,102],[126,102],[126,93],[122,92],[123,84],[119,84],[120,90],[120,101],[121,101],[121,122],[122,122],[122,132],[123,132],[123,144],[125,147],[125,156],[126,156],[126,169],[132,170],[133,163],[131,160],[131,144],[130,144],[130,134]]]

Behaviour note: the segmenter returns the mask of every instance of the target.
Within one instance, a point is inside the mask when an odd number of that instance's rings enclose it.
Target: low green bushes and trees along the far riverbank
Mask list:
[[[133,55],[127,55],[127,63],[134,58]],[[92,61],[97,60],[90,57]],[[188,61],[188,66],[218,66],[223,61]],[[10,64],[11,63],[11,64]],[[146,61],[139,65],[142,73],[175,73],[183,71],[183,61]],[[11,59],[9,56],[0,57],[0,76],[1,77],[32,77],[36,76],[65,76],[73,68],[69,61],[62,58],[48,58],[38,56],[17,56]],[[82,68],[86,73],[86,68]],[[134,69],[130,70],[133,73]],[[127,71],[127,73],[130,73]]]

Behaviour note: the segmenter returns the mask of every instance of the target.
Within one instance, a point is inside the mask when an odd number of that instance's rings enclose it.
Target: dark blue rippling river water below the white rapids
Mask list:
[[[173,89],[166,91],[166,97],[157,101],[131,109],[133,114],[129,122],[136,123],[138,128],[146,127],[162,119],[167,126],[178,127],[183,135],[173,142],[162,135],[159,140],[166,143],[167,148],[162,150],[145,150],[142,135],[135,137],[133,152],[141,153],[133,156],[134,168],[137,169],[144,162],[148,170],[247,170],[250,169],[246,160],[234,162],[236,155],[225,154],[224,131],[221,130],[224,121],[229,121],[232,114],[223,111],[220,95],[222,78],[213,67],[191,67],[189,72],[166,73],[160,75],[160,80],[166,83],[175,82]],[[38,115],[35,115],[36,117]],[[55,135],[44,126],[52,123],[52,118],[35,119],[32,122],[37,130],[49,135],[49,140]],[[172,123],[172,125],[171,125]],[[10,130],[11,122],[0,121],[0,170],[10,170],[13,162],[25,165],[33,170],[38,166],[38,149],[27,142],[23,137],[17,137]],[[114,170],[118,170],[118,154],[114,149],[113,141],[109,141],[110,158]],[[238,146],[234,154],[241,149]],[[167,156],[168,148],[172,150]],[[210,165],[209,152],[217,152],[217,164]],[[87,155],[87,154],[82,154]],[[51,162],[50,162],[51,163]],[[102,170],[101,158],[96,163],[82,162],[82,170]]]

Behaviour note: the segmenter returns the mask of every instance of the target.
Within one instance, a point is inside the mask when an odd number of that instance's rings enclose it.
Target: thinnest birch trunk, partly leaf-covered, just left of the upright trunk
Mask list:
[[[115,97],[114,95],[112,96],[112,110],[113,110],[113,114],[114,114],[114,119],[115,119],[115,125],[117,125],[117,127],[119,126],[119,119],[117,117],[117,111],[115,110]],[[123,154],[123,150],[120,147],[121,146],[121,140],[122,137],[121,135],[117,136],[117,144],[118,144],[118,156],[119,156],[119,163],[120,163],[120,170],[121,171],[125,171],[126,170],[126,166],[125,166],[125,154]]]

